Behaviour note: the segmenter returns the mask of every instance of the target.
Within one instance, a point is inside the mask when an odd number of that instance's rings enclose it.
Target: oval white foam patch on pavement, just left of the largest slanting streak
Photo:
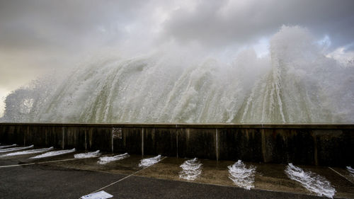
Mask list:
[[[254,188],[254,174],[256,173],[256,167],[246,165],[241,161],[236,161],[235,164],[227,166],[229,168],[229,178],[234,182],[236,186],[241,188],[251,189]]]

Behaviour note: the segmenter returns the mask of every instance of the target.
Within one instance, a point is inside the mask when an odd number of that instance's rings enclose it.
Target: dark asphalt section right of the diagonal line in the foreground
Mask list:
[[[114,198],[321,198],[314,195],[246,190],[141,176],[130,178],[103,189]]]

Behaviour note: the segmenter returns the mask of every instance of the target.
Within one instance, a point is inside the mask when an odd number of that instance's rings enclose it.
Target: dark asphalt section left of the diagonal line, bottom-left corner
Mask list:
[[[0,169],[0,198],[80,198],[122,174],[29,165]]]

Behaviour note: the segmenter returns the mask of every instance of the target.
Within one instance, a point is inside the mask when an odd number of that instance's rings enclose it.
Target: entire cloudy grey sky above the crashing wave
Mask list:
[[[265,55],[282,25],[308,28],[341,56],[354,50],[353,8],[353,0],[0,0],[0,99],[107,48],[135,55],[173,42]]]

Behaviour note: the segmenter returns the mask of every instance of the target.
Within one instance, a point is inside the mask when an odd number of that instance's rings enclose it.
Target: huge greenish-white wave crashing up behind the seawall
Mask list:
[[[282,27],[268,57],[192,52],[100,58],[6,98],[8,122],[354,123],[354,66],[304,28]]]

